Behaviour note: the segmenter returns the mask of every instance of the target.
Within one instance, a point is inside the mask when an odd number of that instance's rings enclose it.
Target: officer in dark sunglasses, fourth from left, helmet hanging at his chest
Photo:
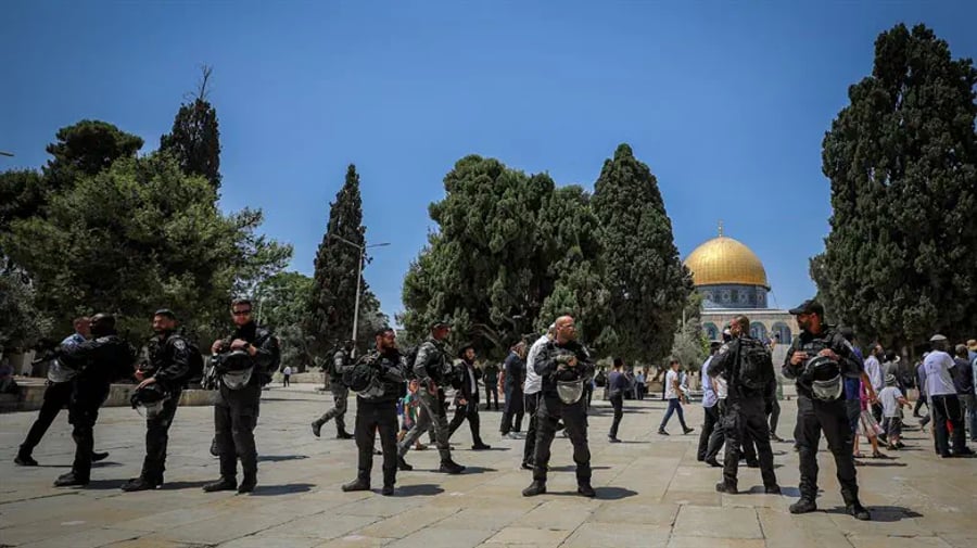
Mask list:
[[[207,493],[251,493],[257,484],[257,449],[254,426],[258,418],[262,385],[271,380],[280,359],[278,341],[251,317],[251,301],[231,303],[234,332],[217,340],[211,353],[217,358],[220,387],[214,406],[214,429],[220,456],[220,479],[204,485]],[[238,459],[243,480],[238,485]]]

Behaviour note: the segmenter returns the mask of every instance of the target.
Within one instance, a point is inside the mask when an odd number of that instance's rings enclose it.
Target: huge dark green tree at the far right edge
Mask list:
[[[900,24],[825,135],[833,215],[815,281],[866,335],[912,346],[977,326],[975,85],[969,59]]]

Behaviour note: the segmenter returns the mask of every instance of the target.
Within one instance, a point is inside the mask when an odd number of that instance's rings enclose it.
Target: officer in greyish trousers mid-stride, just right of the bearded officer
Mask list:
[[[445,409],[439,397],[439,390],[451,382],[453,367],[445,348],[445,337],[451,332],[446,321],[436,321],[431,326],[431,335],[424,340],[417,349],[417,358],[414,361],[413,374],[418,381],[417,395],[421,404],[421,412],[417,422],[401,439],[397,449],[397,467],[401,470],[414,470],[414,467],[404,460],[404,456],[417,442],[420,435],[428,431],[428,425],[434,425],[434,439],[437,443],[437,453],[441,455],[441,472],[460,474],[465,467],[452,460],[452,448],[448,445],[448,424]]]

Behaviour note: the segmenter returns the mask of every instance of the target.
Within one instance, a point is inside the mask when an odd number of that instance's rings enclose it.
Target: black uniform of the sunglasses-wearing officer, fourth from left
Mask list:
[[[245,483],[254,483],[257,476],[257,448],[254,445],[254,426],[257,423],[262,399],[262,385],[271,379],[278,367],[278,341],[266,328],[253,321],[238,328],[225,341],[229,346],[234,339],[248,341],[257,353],[251,358],[254,371],[248,384],[230,390],[224,382],[214,406],[214,429],[217,434],[217,453],[220,456],[220,477],[237,481],[238,459]]]

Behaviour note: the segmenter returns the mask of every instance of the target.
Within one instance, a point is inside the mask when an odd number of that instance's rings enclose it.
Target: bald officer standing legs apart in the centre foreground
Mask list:
[[[591,449],[587,447],[587,411],[584,384],[594,378],[594,364],[582,344],[576,342],[573,318],[556,320],[556,334],[536,356],[533,367],[543,378],[542,397],[536,409],[536,448],[533,457],[533,483],[522,495],[546,493],[549,447],[562,418],[576,463],[576,493],[585,497],[596,494],[591,487]]]

